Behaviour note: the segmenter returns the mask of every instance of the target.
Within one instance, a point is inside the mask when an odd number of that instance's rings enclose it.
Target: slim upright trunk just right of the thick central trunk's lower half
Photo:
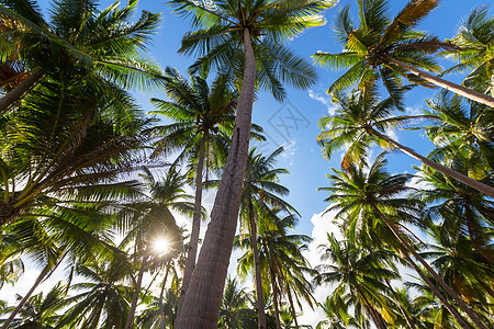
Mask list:
[[[254,218],[252,203],[249,201],[250,243],[252,245],[254,276],[256,280],[258,328],[266,329],[265,297],[262,296],[262,277],[260,272],[259,249],[257,248],[257,225]]]

